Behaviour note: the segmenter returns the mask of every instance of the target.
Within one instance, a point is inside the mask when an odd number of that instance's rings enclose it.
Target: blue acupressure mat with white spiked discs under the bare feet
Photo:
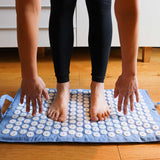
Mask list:
[[[13,99],[4,95],[0,99],[0,109],[5,99],[12,101],[6,113],[1,114],[1,142],[84,142],[84,143],[145,143],[160,141],[160,116],[146,90],[139,90],[140,103],[135,102],[134,111],[123,115],[117,111],[118,98],[113,98],[114,90],[105,90],[111,116],[99,122],[90,121],[90,90],[72,89],[68,117],[65,122],[47,118],[46,111],[52,103],[56,89],[48,89],[50,100],[43,102],[43,113],[32,117],[26,113],[25,104],[19,103],[20,89]],[[32,108],[32,107],[31,107]],[[38,110],[38,109],[37,109]]]

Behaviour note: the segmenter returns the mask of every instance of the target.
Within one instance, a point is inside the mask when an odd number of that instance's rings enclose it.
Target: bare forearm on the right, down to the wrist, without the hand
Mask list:
[[[138,54],[138,0],[116,0],[115,13],[121,43],[122,74],[135,76]]]

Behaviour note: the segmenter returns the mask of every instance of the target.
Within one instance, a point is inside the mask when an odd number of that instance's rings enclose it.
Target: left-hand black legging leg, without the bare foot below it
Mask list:
[[[50,0],[49,38],[58,83],[69,81],[76,0]]]

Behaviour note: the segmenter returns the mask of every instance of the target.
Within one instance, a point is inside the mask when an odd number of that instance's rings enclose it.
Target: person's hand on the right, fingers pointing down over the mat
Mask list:
[[[139,102],[138,81],[136,76],[120,75],[114,90],[114,98],[118,97],[118,111],[121,111],[123,103],[123,112],[127,114],[128,100],[130,99],[130,109],[134,110],[133,96],[136,95],[136,101]],[[124,102],[123,102],[124,100]]]

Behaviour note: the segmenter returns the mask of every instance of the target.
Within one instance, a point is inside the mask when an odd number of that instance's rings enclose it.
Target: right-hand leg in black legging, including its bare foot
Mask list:
[[[112,39],[111,0],[86,0],[89,13],[89,47],[92,61],[91,120],[104,120],[109,109],[104,79]]]

